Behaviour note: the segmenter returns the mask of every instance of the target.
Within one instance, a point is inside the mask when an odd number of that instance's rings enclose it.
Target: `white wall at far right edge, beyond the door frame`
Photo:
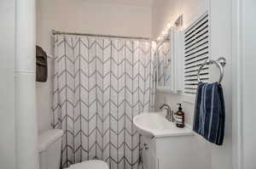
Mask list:
[[[238,111],[241,117],[241,124],[236,123],[236,125],[241,125],[241,156],[242,164],[241,168],[254,169],[256,168],[256,134],[255,134],[255,38],[256,38],[256,24],[253,21],[256,14],[256,3],[253,0],[239,0],[240,12],[240,45],[239,58],[241,67],[237,67],[241,70],[241,111]],[[241,55],[240,55],[241,54]],[[238,96],[239,97],[239,96]]]

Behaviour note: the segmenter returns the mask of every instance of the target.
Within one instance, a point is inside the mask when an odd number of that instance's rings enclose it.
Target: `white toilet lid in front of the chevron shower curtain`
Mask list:
[[[104,161],[83,161],[72,166],[68,169],[108,169],[108,164]]]

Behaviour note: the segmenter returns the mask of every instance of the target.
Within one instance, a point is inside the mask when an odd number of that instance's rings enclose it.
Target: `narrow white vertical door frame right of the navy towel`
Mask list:
[[[232,154],[233,168],[242,169],[241,0],[232,1]]]

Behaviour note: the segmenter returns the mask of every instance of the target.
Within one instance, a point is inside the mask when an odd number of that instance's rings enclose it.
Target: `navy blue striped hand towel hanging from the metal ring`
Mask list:
[[[199,82],[193,130],[212,144],[222,145],[224,125],[225,108],[222,86],[218,82]]]

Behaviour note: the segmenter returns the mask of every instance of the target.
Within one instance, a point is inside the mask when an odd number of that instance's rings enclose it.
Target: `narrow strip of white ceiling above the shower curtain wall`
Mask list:
[[[84,0],[90,3],[112,3],[119,5],[132,5],[137,7],[151,7],[154,0]]]

